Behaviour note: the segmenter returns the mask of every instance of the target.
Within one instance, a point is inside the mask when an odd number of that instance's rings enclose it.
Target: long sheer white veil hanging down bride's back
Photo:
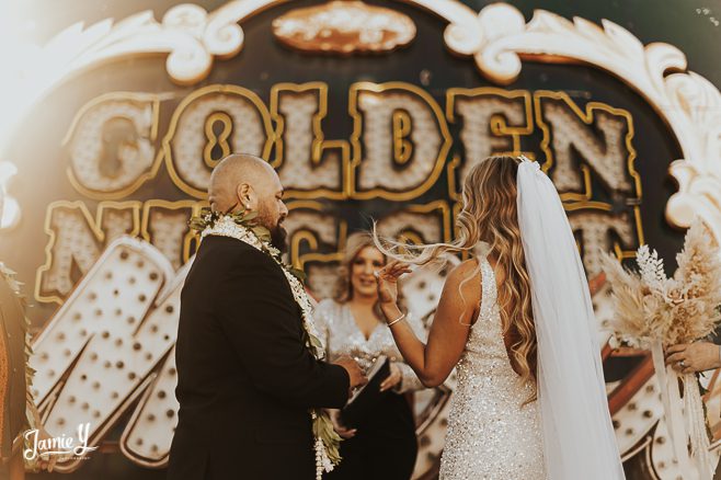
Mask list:
[[[517,173],[518,224],[538,340],[548,478],[623,479],[588,284],[563,205],[537,162]]]

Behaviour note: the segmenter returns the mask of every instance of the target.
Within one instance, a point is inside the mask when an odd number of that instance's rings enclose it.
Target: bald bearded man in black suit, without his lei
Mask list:
[[[264,160],[231,155],[215,168],[218,213],[251,210],[283,250],[288,214]],[[283,270],[230,237],[207,236],[181,295],[175,350],[180,402],[169,480],[313,479],[310,408],[341,408],[366,381],[353,359],[317,361]]]

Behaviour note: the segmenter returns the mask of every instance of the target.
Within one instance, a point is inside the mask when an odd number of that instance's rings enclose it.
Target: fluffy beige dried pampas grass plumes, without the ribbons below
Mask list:
[[[678,268],[667,278],[663,259],[642,245],[638,272],[623,268],[604,253],[602,265],[611,287],[616,340],[638,348],[655,341],[664,346],[689,343],[713,332],[721,321],[721,256],[712,235],[700,220],[686,233]]]

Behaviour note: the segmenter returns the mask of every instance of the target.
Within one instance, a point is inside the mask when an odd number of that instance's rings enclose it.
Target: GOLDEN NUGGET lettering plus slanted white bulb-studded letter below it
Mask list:
[[[582,110],[563,92],[497,88],[449,89],[439,102],[410,83],[360,82],[347,95],[350,137],[327,138],[323,128],[339,121],[328,113],[328,84],[281,83],[268,93],[265,103],[240,85],[208,85],[170,104],[115,92],[79,110],[64,160],[87,199],[48,207],[47,258],[36,282],[39,300],[61,304],[32,361],[50,432],[91,422],[96,444],[133,409],[121,449],[144,466],[167,462],[178,419],[180,293],[197,242],[187,220],[205,202],[216,162],[231,151],[262,156],[277,169],[290,198],[290,256],[321,297],[330,294],[348,230],[335,205],[377,199],[387,207],[378,218],[384,235],[448,240],[460,180],[492,153],[525,153],[548,169],[591,275],[602,249],[623,254],[642,241],[633,123],[623,110]],[[161,175],[172,181],[170,191],[159,187]],[[185,199],[134,199],[144,185]],[[437,301],[433,285],[443,281],[417,276],[407,285],[416,310]],[[434,428],[447,407],[447,390],[432,395],[431,421],[421,427],[426,442],[443,438]],[[423,448],[419,471],[432,468],[442,445]]]

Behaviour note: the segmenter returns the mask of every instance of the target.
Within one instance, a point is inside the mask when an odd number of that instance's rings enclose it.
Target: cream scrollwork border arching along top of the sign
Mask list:
[[[179,84],[197,83],[207,77],[216,57],[232,57],[243,47],[239,22],[286,1],[233,0],[209,13],[184,3],[170,9],[161,22],[145,11],[88,28],[76,23],[30,58],[24,78],[31,79],[32,88],[22,90],[28,94],[11,113],[20,118],[65,80],[140,54],[168,54],[170,78]],[[404,1],[446,20],[446,46],[471,56],[481,73],[495,83],[511,83],[520,73],[522,60],[531,60],[591,65],[633,88],[666,122],[684,156],[670,167],[678,192],[666,204],[667,220],[687,227],[700,215],[721,239],[721,92],[687,70],[686,56],[679,49],[664,43],[644,46],[607,20],[598,26],[581,18],[569,21],[536,10],[526,23],[520,11],[505,3],[476,12],[458,0]],[[58,55],[64,61],[57,61]]]

